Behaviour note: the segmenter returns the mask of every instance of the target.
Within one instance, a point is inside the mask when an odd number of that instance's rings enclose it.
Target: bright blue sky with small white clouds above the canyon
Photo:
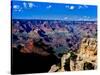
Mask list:
[[[97,6],[12,0],[12,19],[96,20]]]

